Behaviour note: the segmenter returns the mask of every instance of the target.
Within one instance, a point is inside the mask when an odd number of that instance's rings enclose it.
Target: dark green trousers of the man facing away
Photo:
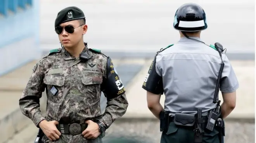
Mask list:
[[[214,128],[213,131],[204,131],[202,143],[220,143],[219,131]],[[192,129],[177,127],[174,122],[169,124],[166,133],[162,133],[161,143],[194,143],[195,133]]]

